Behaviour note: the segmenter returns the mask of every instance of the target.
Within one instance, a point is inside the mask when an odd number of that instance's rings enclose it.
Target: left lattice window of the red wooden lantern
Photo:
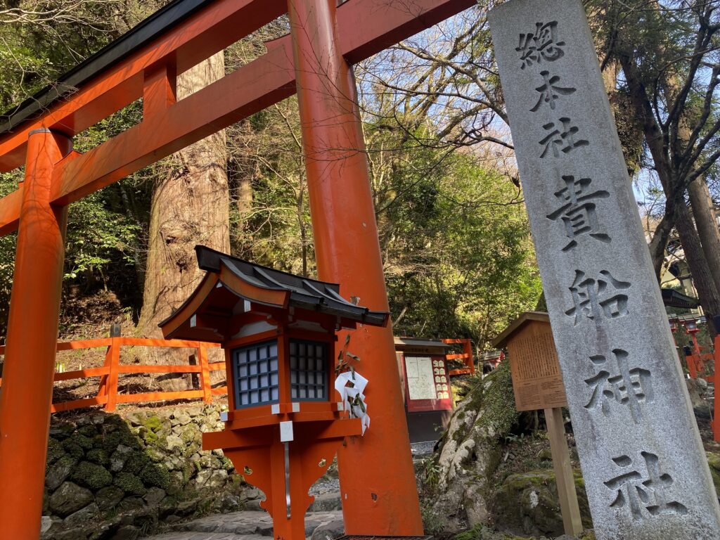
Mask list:
[[[253,343],[233,351],[235,408],[279,400],[277,341]]]

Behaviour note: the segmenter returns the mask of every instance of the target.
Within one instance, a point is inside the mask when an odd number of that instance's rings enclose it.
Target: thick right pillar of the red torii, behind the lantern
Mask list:
[[[336,0],[288,0],[318,277],[387,311],[353,71],[338,47]],[[339,343],[343,343],[341,338]],[[372,426],[338,453],[346,534],[423,534],[392,326],[353,333]]]

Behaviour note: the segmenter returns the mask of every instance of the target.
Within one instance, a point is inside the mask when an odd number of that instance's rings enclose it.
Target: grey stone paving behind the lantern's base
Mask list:
[[[332,531],[330,538],[341,536],[343,516],[339,510],[310,512],[305,516],[305,534]],[[272,537],[272,520],[264,511],[243,510],[206,516],[188,523],[178,523],[175,531],[146,540],[267,540]],[[338,531],[337,533],[336,531]],[[317,535],[316,535],[317,536]]]

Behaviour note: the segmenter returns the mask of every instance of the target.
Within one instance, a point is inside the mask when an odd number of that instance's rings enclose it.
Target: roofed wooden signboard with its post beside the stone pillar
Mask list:
[[[576,536],[582,531],[582,520],[562,420],[567,397],[550,319],[547,313],[523,313],[492,344],[508,349],[517,410],[542,409],[545,412],[562,524],[565,534]]]

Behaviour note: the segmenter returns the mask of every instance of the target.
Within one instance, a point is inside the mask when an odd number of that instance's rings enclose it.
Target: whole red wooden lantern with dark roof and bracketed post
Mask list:
[[[225,431],[204,433],[203,449],[223,449],[246,481],[264,491],[276,538],[305,539],[307,491],[343,438],[362,431],[333,387],[336,332],[384,326],[389,315],[347,302],[337,284],[202,246],[196,252],[207,274],[161,328],[166,338],[225,349]]]

